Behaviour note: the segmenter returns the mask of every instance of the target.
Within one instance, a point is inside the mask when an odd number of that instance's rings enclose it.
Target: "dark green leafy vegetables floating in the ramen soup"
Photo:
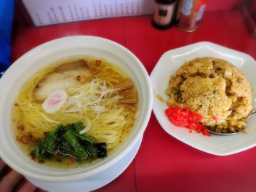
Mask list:
[[[79,134],[83,124],[78,121],[48,132],[45,137],[31,148],[33,159],[44,162],[58,156],[71,156],[76,160],[104,158],[107,156],[106,143],[95,143],[85,134]]]

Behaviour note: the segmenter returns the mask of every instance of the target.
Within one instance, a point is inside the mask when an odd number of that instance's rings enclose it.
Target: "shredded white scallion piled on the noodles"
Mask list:
[[[86,127],[81,130],[80,134],[88,132],[91,128],[92,121],[96,121],[100,113],[107,111],[111,108],[111,103],[119,99],[119,95],[114,95],[117,89],[108,87],[108,82],[94,79],[91,82],[84,84],[82,87],[71,89],[67,102],[61,108],[61,113],[79,113],[85,116]],[[95,111],[94,119],[89,120],[87,111]],[[50,121],[50,119],[47,119]]]

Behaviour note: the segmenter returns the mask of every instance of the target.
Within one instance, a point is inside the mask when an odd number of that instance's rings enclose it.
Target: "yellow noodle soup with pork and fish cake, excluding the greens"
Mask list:
[[[56,92],[62,103],[56,104]],[[21,150],[36,162],[60,169],[87,166],[102,158],[81,160],[58,154],[39,161],[31,148],[60,124],[80,121],[79,134],[105,143],[109,155],[134,127],[137,103],[137,88],[118,65],[97,57],[65,58],[36,72],[20,89],[12,109],[12,129]]]

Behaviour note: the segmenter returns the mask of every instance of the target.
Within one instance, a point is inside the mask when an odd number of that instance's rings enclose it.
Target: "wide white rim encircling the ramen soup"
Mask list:
[[[85,44],[89,44],[89,47]],[[105,46],[104,50],[100,49],[99,44],[103,44]],[[17,93],[17,91],[14,90],[15,87],[13,84],[15,84],[16,87],[22,86],[25,81],[21,78],[22,74],[30,73],[32,75],[39,68],[41,68],[44,63],[51,63],[46,62],[45,60],[51,60],[53,55],[65,52],[65,54],[68,56],[75,56],[72,55],[72,52],[76,52],[78,49],[83,50],[84,47],[86,47],[86,49],[97,49],[97,51],[99,51],[99,55],[108,52],[110,57],[114,55],[116,60],[133,60],[134,63],[136,63],[136,68],[132,65],[126,65],[126,68],[129,73],[132,73],[132,76],[136,76],[135,84],[137,85],[137,89],[139,89],[139,97],[141,97],[139,105],[140,111],[143,111],[143,114],[139,114],[140,119],[137,119],[136,125],[127,140],[125,140],[124,143],[118,149],[116,149],[116,151],[111,153],[111,155],[105,158],[103,161],[93,164],[90,167],[71,170],[52,169],[50,167],[41,166],[40,164],[29,160],[29,157],[25,156],[25,154],[20,151],[17,144],[13,142],[14,137],[10,129],[3,129],[3,127],[11,126],[10,106],[11,103],[12,105],[14,103],[15,94],[13,93]],[[117,52],[124,55],[116,55]],[[89,52],[86,55],[90,55],[91,53],[92,52]],[[76,55],[81,55],[81,52]],[[42,58],[45,60],[41,61]],[[62,58],[63,56],[60,56],[58,59]],[[57,57],[54,57],[54,59],[57,60]],[[108,58],[106,59],[108,60]],[[36,67],[31,68],[31,63],[34,64],[33,66],[35,66],[36,63]],[[13,77],[16,77],[16,79]],[[140,81],[141,78],[144,78],[145,81]],[[111,167],[112,164],[115,164],[116,161],[119,161],[121,158],[123,158],[128,153],[128,151],[134,147],[134,145],[137,143],[137,140],[143,136],[151,116],[153,105],[151,81],[143,63],[141,63],[140,60],[132,52],[129,51],[129,49],[122,46],[121,44],[97,36],[67,36],[48,41],[39,45],[38,47],[31,49],[31,51],[25,53],[18,60],[16,60],[15,63],[13,63],[8,68],[6,73],[4,73],[4,76],[1,77],[0,92],[3,92],[0,100],[0,137],[2,137],[0,140],[1,159],[3,159],[9,165],[9,167],[12,167],[12,169],[15,169],[17,172],[20,172],[27,177],[31,177],[36,180],[53,182],[63,182],[66,180],[77,180],[90,177],[102,170],[107,169],[108,167]],[[8,100],[6,100],[7,98]],[[7,143],[9,145],[6,145]],[[18,162],[17,159],[19,159]]]

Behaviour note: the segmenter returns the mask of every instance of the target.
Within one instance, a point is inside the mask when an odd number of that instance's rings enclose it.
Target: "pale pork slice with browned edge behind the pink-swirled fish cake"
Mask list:
[[[84,60],[64,63],[57,66],[54,73],[44,76],[36,84],[33,90],[33,97],[37,101],[44,101],[51,92],[57,89],[63,89],[68,92],[68,89],[80,87],[94,78],[95,76]]]

